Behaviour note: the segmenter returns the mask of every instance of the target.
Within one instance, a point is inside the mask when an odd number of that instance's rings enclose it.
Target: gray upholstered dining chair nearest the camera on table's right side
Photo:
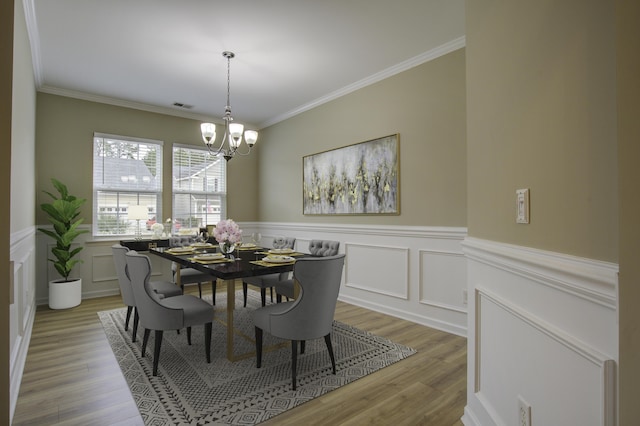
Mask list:
[[[293,275],[300,283],[300,295],[292,302],[265,306],[253,311],[256,336],[256,367],[262,365],[262,335],[291,340],[291,382],[296,389],[298,342],[304,353],[305,341],[324,337],[333,374],[336,360],[331,344],[331,329],[335,314],[344,254],[325,257],[305,257],[296,260]]]

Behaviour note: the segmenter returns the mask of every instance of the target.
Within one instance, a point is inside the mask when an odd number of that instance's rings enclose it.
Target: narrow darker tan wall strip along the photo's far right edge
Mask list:
[[[616,2],[616,55],[618,59],[618,147],[620,181],[620,425],[640,418],[640,3]]]

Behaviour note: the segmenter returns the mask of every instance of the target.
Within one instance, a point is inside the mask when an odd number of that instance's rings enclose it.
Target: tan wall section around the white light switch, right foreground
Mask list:
[[[489,0],[466,16],[469,235],[616,262],[612,4]]]

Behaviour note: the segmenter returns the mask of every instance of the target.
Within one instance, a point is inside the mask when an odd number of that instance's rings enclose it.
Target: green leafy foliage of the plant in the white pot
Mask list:
[[[89,232],[88,230],[78,230],[78,226],[82,223],[80,216],[80,206],[87,200],[84,198],[76,198],[69,195],[69,191],[65,184],[57,179],[51,179],[53,186],[60,193],[57,197],[48,191],[42,191],[53,198],[53,202],[44,203],[40,208],[47,213],[49,221],[53,224],[53,231],[49,229],[38,228],[38,231],[47,234],[56,241],[56,246],[51,249],[51,253],[55,259],[49,259],[53,263],[58,273],[69,280],[69,275],[74,266],[82,260],[74,259],[74,257],[82,251],[84,247],[76,247],[71,250],[71,243],[80,234]]]

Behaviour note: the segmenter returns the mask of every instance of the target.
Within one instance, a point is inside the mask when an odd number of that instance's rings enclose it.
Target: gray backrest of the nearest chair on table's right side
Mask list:
[[[331,332],[338,301],[344,254],[296,260],[293,276],[300,295],[285,312],[271,318],[274,335],[292,340],[316,339]]]

